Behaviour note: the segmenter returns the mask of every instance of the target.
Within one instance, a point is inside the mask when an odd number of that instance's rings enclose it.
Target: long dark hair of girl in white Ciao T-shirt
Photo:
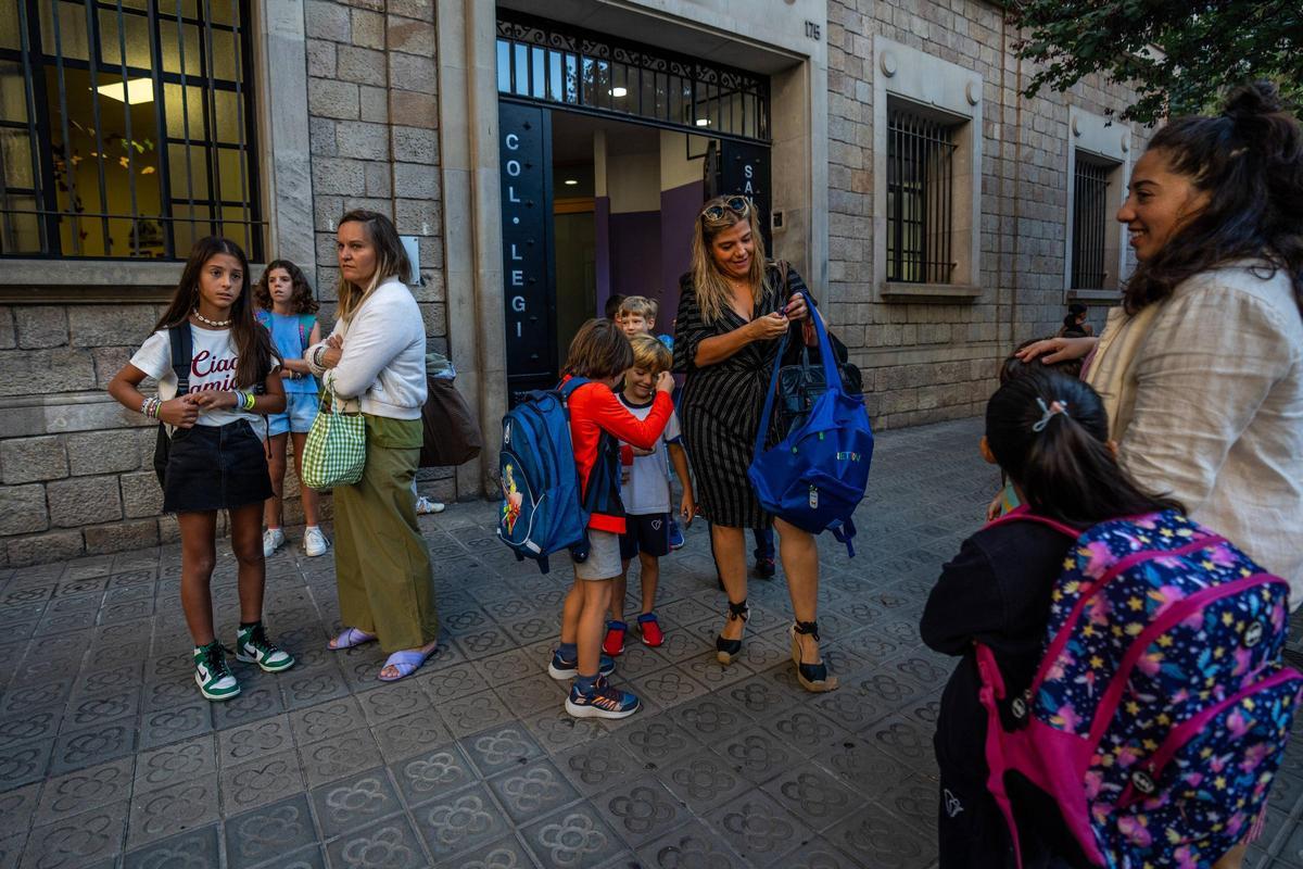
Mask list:
[[[236,354],[236,386],[258,386],[271,371],[271,360],[275,354],[271,348],[271,335],[263,328],[253,315],[253,293],[249,292],[249,258],[244,255],[240,245],[220,236],[207,236],[194,242],[190,257],[185,261],[181,271],[181,283],[172,293],[163,317],[154,324],[154,331],[167,330],[180,326],[190,319],[190,313],[199,306],[199,272],[203,266],[218,254],[229,254],[240,262],[240,271],[244,274],[240,294],[231,305],[231,343],[235,344]]]

